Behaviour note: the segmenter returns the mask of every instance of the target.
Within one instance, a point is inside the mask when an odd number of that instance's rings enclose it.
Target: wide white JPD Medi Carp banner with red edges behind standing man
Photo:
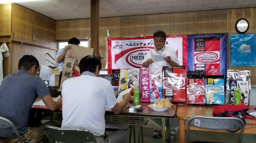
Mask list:
[[[153,36],[108,38],[108,73],[112,69],[141,68],[147,52],[154,49]],[[181,65],[187,65],[187,35],[166,36],[166,46],[172,47]]]

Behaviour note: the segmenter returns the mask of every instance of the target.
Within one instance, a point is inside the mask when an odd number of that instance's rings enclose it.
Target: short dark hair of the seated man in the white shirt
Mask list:
[[[101,70],[101,62],[98,57],[94,55],[87,55],[86,57],[83,57],[79,62],[80,74],[82,74],[84,71],[94,73],[97,65],[99,65],[99,70]]]

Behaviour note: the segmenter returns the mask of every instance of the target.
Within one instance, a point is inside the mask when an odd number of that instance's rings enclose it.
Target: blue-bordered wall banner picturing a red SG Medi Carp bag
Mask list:
[[[227,33],[188,35],[188,71],[193,70],[226,77]]]

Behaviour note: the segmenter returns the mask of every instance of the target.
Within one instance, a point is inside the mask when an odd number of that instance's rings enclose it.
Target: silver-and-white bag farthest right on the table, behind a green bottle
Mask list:
[[[232,70],[227,72],[227,95],[226,104],[234,105],[234,92],[240,88],[241,103],[249,105],[249,96],[251,90],[250,70]]]

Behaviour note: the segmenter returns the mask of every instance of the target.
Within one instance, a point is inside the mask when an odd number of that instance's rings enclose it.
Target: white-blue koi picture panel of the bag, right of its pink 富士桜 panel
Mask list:
[[[150,68],[150,102],[163,99],[162,68]]]

